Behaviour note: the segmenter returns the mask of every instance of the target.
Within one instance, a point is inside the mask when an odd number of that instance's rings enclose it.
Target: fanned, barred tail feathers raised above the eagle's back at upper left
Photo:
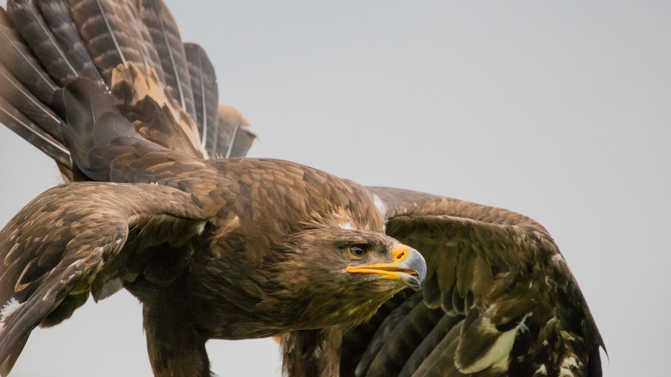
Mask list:
[[[9,0],[0,40],[0,121],[54,158],[68,180],[79,180],[75,151],[52,98],[76,78],[107,91],[142,138],[185,156],[236,156],[253,140],[241,129],[219,142],[240,122],[219,124],[215,70],[200,46],[182,42],[162,0]]]

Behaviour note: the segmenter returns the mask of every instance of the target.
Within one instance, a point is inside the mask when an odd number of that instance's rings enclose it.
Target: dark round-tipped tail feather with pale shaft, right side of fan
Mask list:
[[[201,134],[201,145],[207,154],[215,155],[217,143],[217,106],[219,89],[217,76],[205,50],[193,43],[185,43],[184,50],[189,62],[191,88],[195,101],[196,122]]]

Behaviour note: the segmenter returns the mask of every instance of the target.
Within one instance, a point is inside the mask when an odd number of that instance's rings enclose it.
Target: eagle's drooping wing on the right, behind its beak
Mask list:
[[[344,376],[601,376],[603,340],[544,227],[495,207],[369,189],[386,233],[419,250],[428,271],[421,292],[376,314],[374,332],[346,333]]]

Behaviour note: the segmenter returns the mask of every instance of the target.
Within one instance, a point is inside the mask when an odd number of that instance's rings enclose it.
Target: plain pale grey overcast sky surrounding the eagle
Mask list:
[[[605,376],[668,375],[671,2],[167,3],[258,133],[250,156],[533,217],[592,309]],[[58,182],[4,127],[0,174],[0,226]],[[126,292],[87,303],[34,331],[12,375],[150,376],[140,310]],[[272,340],[208,349],[220,376],[278,375]]]

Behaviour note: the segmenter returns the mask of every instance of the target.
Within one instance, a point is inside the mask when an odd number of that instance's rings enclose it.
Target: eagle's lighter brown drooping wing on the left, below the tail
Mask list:
[[[97,300],[137,276],[164,279],[147,270],[146,250],[191,247],[209,215],[191,195],[154,184],[76,182],[31,201],[0,231],[1,374],[32,329],[70,317],[89,291]]]

